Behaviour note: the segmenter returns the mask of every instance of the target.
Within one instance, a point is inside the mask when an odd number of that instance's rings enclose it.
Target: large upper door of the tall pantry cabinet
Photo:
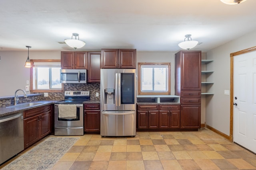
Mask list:
[[[181,90],[201,90],[201,51],[182,51],[181,55]]]

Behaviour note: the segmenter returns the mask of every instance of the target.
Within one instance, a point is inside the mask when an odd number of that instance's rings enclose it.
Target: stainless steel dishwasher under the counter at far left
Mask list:
[[[24,150],[23,113],[0,117],[0,164]]]

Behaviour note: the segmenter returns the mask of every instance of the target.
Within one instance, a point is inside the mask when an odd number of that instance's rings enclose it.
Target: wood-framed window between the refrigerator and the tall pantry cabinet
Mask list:
[[[170,94],[170,63],[138,63],[138,95]]]

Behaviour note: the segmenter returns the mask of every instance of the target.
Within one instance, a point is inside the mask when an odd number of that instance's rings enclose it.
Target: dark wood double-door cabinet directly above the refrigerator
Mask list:
[[[101,68],[136,68],[136,49],[102,49]]]

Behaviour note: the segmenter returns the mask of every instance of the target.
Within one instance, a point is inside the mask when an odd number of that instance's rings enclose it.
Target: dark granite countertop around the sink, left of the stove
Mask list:
[[[28,106],[28,107],[22,107],[22,108],[6,108],[8,106],[0,107],[0,117],[4,117],[6,115],[11,115],[11,114],[14,114],[14,113],[18,113],[18,112],[24,111],[24,110],[33,109],[33,108],[36,108],[36,107],[41,107],[41,106],[46,106],[46,105],[49,105],[49,104],[54,104],[55,102],[57,102],[57,101],[56,100],[41,100],[41,101],[31,102],[31,103],[42,103],[42,104],[38,104],[36,106]],[[20,104],[24,104],[24,103],[20,103]]]

